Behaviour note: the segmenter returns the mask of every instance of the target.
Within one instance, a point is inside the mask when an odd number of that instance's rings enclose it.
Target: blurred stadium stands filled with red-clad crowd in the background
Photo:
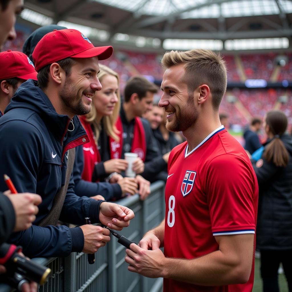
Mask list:
[[[18,38],[13,42],[8,41],[2,48],[2,51],[8,49],[14,51],[22,50],[23,43],[28,35],[21,31],[18,31],[17,35]],[[278,68],[277,81],[284,79],[292,81],[292,53],[285,53],[285,55],[288,62],[285,66]],[[162,54],[156,53],[115,50],[111,58],[101,61],[101,63],[109,66],[119,74],[122,92],[128,78],[137,74],[147,75],[153,80],[161,81],[164,72],[160,64],[161,57]],[[241,54],[239,56],[225,55],[228,82],[238,83],[242,80],[242,77],[246,77],[246,79],[266,79],[269,81],[277,66],[275,62],[276,57],[276,53]],[[282,109],[288,116],[289,124],[292,124],[291,90],[234,88],[227,95],[233,95],[235,100],[233,103],[230,103],[225,97],[220,106],[220,111],[230,114],[230,124],[238,124],[244,127],[248,124],[250,117],[263,117],[268,110],[274,108]],[[278,98],[282,95],[287,96],[287,103],[281,104],[278,102]],[[242,107],[244,110],[242,110]]]

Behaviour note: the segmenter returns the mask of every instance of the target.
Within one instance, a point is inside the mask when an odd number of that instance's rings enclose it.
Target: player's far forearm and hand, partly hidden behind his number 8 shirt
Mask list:
[[[140,240],[138,246],[143,249],[157,249],[164,246],[164,223],[163,220],[157,227],[149,230]]]

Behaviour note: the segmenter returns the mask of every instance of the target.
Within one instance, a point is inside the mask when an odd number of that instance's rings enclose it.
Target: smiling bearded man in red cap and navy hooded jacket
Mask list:
[[[0,139],[5,141],[0,145],[0,177],[7,173],[19,192],[37,192],[43,198],[33,226],[10,238],[27,256],[94,253],[110,240],[109,230],[82,225],[85,217],[117,230],[134,217],[124,206],[77,197],[71,152],[68,156],[69,149],[89,141],[76,115],[90,112],[91,98],[101,90],[98,61],[112,51],[111,46],[94,47],[75,29],[46,34],[32,54],[38,81],[21,84],[0,119]],[[0,190],[6,190],[2,180]],[[56,227],[58,218],[82,226]]]

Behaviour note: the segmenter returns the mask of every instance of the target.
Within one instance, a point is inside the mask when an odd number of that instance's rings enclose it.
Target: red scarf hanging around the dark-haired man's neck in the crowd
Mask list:
[[[119,142],[109,137],[109,148],[111,158],[121,158],[123,150],[123,124],[121,118],[118,117],[116,122],[117,130],[119,133]],[[129,135],[129,133],[128,133]],[[135,117],[134,133],[132,140],[131,152],[137,153],[143,161],[146,158],[146,138],[145,130],[142,121],[139,117]]]

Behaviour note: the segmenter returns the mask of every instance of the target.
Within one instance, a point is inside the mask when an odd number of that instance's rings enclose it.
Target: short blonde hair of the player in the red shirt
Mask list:
[[[190,51],[170,51],[164,54],[161,64],[169,68],[185,64],[185,74],[182,81],[187,84],[189,94],[206,84],[212,94],[213,108],[218,110],[227,87],[227,70],[220,53],[197,49]]]

